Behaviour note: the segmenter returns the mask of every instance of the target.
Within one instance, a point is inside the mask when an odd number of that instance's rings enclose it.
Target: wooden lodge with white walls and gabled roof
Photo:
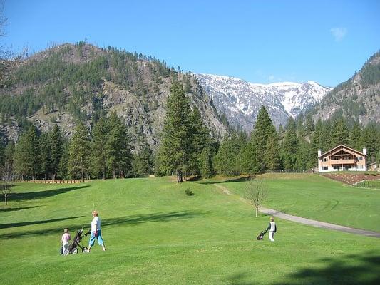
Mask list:
[[[322,154],[318,150],[318,171],[366,171],[366,149],[363,152],[338,145]]]

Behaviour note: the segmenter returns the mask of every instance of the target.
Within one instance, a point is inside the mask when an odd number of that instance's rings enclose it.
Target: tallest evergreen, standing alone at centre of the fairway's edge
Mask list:
[[[193,138],[189,114],[190,102],[182,84],[175,81],[170,88],[155,171],[158,175],[170,175],[175,171],[178,182],[183,181],[183,172],[190,168],[191,162]]]

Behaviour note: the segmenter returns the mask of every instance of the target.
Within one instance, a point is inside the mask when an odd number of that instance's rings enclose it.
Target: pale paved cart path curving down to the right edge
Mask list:
[[[232,195],[230,190],[228,190],[225,186],[222,186],[219,184],[214,184],[214,185],[220,188],[220,190],[222,190],[222,192],[224,192],[225,194]],[[249,203],[247,199],[244,199],[243,197],[239,197],[239,199],[242,202]],[[361,234],[366,237],[380,238],[380,232],[368,231],[366,229],[354,229],[352,227],[344,227],[344,226],[340,226],[339,224],[330,224],[327,222],[319,222],[319,221],[316,221],[315,219],[306,219],[302,217],[297,217],[297,216],[293,216],[292,214],[285,214],[275,209],[267,209],[264,207],[260,207],[259,211],[269,216],[279,217],[280,219],[287,219],[288,221],[297,222],[299,224],[308,224],[309,226],[313,226],[313,227],[320,227],[324,229],[334,229],[340,232],[349,232],[350,234]]]

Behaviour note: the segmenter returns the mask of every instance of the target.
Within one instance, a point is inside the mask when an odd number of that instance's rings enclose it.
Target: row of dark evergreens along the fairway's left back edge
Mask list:
[[[135,155],[132,150],[125,123],[112,113],[91,130],[78,123],[70,139],[63,138],[58,125],[41,133],[31,126],[16,143],[0,144],[0,167],[3,177],[11,172],[20,180],[148,176],[153,172],[150,147]]]

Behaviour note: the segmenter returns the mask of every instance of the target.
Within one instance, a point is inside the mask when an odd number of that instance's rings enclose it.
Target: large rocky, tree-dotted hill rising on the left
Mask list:
[[[182,81],[215,138],[227,132],[192,75],[150,56],[80,42],[49,48],[25,61],[5,62],[3,67],[0,132],[7,138],[17,138],[29,124],[41,130],[58,124],[70,136],[78,120],[91,125],[102,113],[115,112],[128,125],[134,145],[147,140],[155,147],[173,80]]]

